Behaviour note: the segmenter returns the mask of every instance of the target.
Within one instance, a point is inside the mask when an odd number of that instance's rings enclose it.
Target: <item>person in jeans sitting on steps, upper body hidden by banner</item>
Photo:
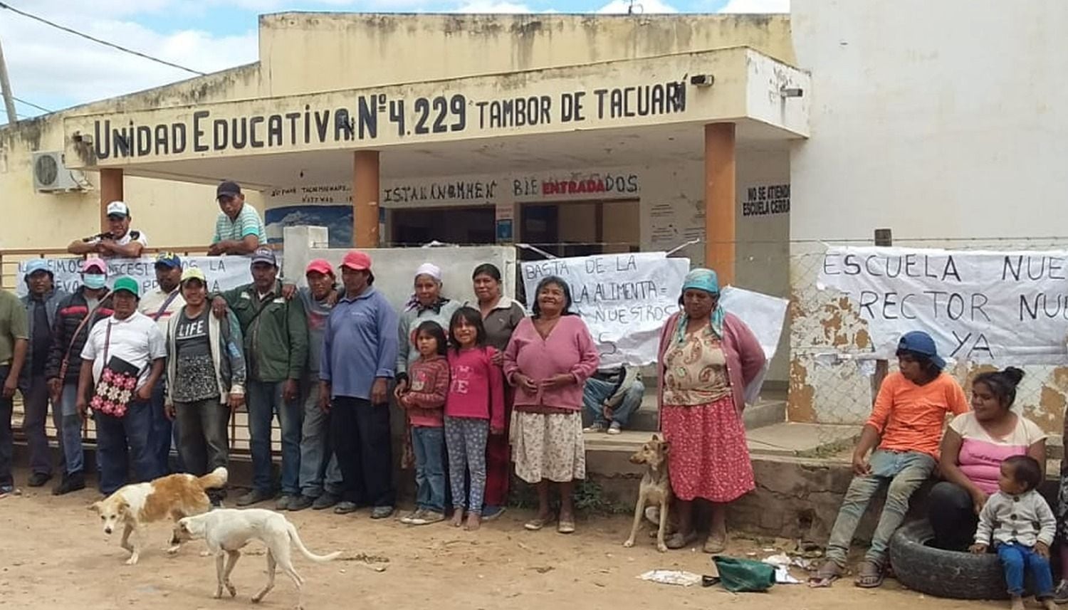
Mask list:
[[[644,396],[645,384],[638,366],[599,369],[582,390],[582,407],[593,421],[586,432],[619,434]]]

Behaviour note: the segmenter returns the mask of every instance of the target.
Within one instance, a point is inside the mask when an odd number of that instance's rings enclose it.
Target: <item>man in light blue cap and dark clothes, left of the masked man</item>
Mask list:
[[[30,487],[41,487],[52,478],[51,456],[48,452],[48,434],[45,421],[48,419],[48,380],[45,367],[48,351],[52,345],[52,324],[60,302],[68,295],[56,288],[52,270],[44,259],[35,259],[26,265],[23,275],[28,294],[22,297],[27,322],[30,329],[30,344],[26,355],[26,365],[18,381],[22,393],[22,434],[30,450]],[[56,429],[63,429],[63,416],[59,403],[52,404],[52,422]],[[62,435],[60,445],[62,448]]]

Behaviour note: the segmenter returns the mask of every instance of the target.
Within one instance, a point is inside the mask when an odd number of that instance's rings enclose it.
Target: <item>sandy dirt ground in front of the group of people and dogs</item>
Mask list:
[[[25,472],[17,473],[17,481],[25,482]],[[200,557],[202,542],[168,557],[162,549],[170,526],[164,523],[148,528],[147,550],[140,563],[125,565],[128,556],[119,548],[117,534],[109,539],[95,513],[87,511],[97,499],[99,495],[89,489],[54,498],[47,488],[25,487],[21,496],[0,499],[0,606],[225,610],[248,607],[250,596],[263,585],[263,546],[252,543],[232,577],[237,598],[213,599],[214,559]],[[700,551],[661,554],[644,536],[634,548],[623,548],[627,517],[582,519],[578,532],[565,536],[549,529],[524,531],[522,522],[530,514],[515,510],[474,533],[445,523],[411,528],[396,520],[372,521],[366,511],[337,516],[309,510],[287,516],[313,551],[344,551],[340,560],[328,564],[314,564],[295,551],[295,566],[305,578],[303,605],[309,610],[339,608],[340,604],[361,610],[544,610],[557,604],[612,610],[720,605],[783,610],[1003,607],[936,599],[905,591],[892,580],[877,592],[843,580],[826,590],[776,585],[767,594],[740,595],[719,586],[645,582],[638,576],[649,569],[713,570],[708,556]],[[745,557],[766,544],[735,539],[728,553]],[[375,572],[368,565],[386,569]],[[292,582],[279,574],[262,606],[293,608],[296,604]]]

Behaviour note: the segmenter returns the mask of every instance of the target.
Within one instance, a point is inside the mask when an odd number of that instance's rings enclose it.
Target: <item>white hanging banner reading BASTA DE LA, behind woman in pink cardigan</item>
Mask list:
[[[520,269],[528,303],[543,278],[559,276],[568,283],[571,309],[590,327],[602,366],[656,362],[660,328],[678,311],[689,270],[688,259],[663,252],[550,259]]]

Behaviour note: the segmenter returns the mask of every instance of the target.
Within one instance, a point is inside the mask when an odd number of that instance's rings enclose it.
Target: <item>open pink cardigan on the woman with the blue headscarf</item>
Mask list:
[[[658,371],[658,403],[663,408],[663,361],[672,340],[675,338],[678,318],[681,314],[674,313],[660,330],[660,350],[657,363]],[[723,356],[727,360],[727,376],[731,378],[731,393],[734,395],[735,409],[741,417],[745,408],[745,387],[760,374],[764,369],[765,356],[760,342],[753,331],[738,316],[727,313],[723,320]],[[661,411],[662,412],[662,411]]]

